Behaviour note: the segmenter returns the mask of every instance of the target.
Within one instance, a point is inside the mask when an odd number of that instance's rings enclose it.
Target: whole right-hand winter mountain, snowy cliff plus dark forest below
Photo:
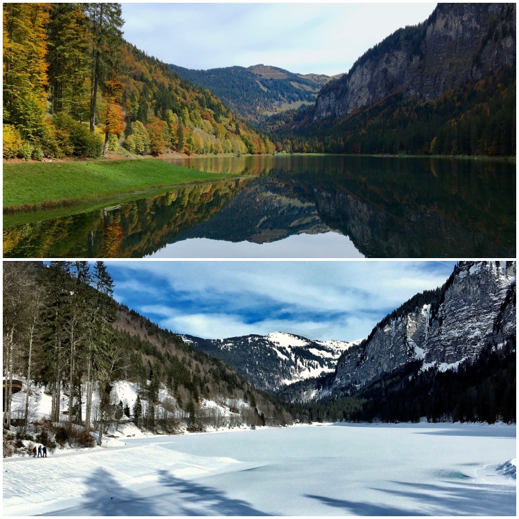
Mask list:
[[[516,262],[459,262],[344,352],[334,374],[277,396],[298,418],[515,421],[516,333]]]

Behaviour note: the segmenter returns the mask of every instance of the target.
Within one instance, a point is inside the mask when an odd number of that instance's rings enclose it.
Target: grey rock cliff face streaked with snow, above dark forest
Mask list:
[[[383,320],[341,356],[333,390],[350,392],[408,363],[456,368],[516,334],[516,262],[460,262],[439,300]]]

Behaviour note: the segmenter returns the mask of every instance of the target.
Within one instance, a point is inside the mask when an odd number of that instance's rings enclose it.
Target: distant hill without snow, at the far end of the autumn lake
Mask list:
[[[260,122],[264,116],[302,103],[315,102],[322,85],[331,78],[318,74],[294,74],[263,64],[194,70],[170,65],[170,69],[203,88],[209,89],[240,117]]]

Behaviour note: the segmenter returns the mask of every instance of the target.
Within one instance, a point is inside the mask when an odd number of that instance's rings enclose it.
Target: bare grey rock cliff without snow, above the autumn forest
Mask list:
[[[314,120],[345,117],[397,90],[435,99],[515,62],[515,3],[439,3],[423,24],[397,30],[325,86]]]

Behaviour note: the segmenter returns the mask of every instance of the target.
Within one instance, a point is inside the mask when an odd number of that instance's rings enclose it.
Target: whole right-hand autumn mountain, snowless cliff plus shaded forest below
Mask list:
[[[513,155],[516,6],[440,3],[264,126],[293,152]]]

